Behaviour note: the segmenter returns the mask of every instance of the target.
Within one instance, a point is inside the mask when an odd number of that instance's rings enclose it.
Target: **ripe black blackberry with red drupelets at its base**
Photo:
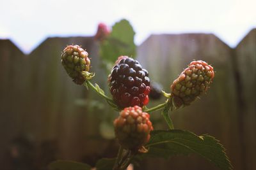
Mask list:
[[[120,108],[145,106],[148,104],[150,80],[148,71],[142,69],[137,60],[121,59],[110,75],[110,92]]]

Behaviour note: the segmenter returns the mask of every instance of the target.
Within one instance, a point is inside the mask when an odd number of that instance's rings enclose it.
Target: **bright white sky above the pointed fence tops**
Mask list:
[[[0,39],[25,53],[47,37],[93,36],[99,22],[129,20],[140,45],[150,34],[213,33],[234,47],[256,28],[255,0],[0,0]]]

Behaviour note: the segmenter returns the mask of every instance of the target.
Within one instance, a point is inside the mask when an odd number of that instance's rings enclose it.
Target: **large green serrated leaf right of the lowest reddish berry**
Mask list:
[[[152,131],[152,137],[146,147],[149,151],[145,155],[141,154],[143,157],[168,158],[172,155],[198,153],[220,169],[232,169],[225,148],[207,134],[196,136],[192,132],[182,130]]]

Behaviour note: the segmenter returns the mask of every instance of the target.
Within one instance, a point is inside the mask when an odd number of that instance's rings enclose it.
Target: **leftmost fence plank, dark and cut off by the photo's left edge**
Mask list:
[[[22,126],[20,113],[23,111],[22,81],[25,55],[8,39],[0,40],[0,164],[4,168],[4,150],[19,133]]]

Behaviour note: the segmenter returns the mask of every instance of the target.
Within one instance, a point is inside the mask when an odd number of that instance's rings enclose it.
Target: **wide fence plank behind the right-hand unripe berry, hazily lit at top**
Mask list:
[[[173,122],[179,129],[216,136],[227,148],[234,166],[241,169],[240,155],[237,154],[240,150],[236,136],[237,106],[231,50],[212,34],[161,34],[150,36],[139,46],[138,59],[147,67],[151,80],[162,83],[166,92],[170,92],[172,81],[192,60],[205,60],[214,66],[216,76],[207,96],[187,108],[174,111]],[[195,157],[175,158],[165,165],[173,169],[214,169]],[[148,162],[147,168],[150,166],[157,169],[158,164]]]

